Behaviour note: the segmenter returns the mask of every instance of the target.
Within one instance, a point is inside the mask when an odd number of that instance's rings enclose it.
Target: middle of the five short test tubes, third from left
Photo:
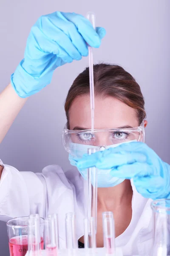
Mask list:
[[[65,231],[66,231],[66,248],[77,249],[78,241],[76,239],[76,223],[75,223],[75,213],[68,212],[65,216]]]

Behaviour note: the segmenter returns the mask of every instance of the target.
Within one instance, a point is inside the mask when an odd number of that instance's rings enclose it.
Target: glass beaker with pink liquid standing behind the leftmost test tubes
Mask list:
[[[28,219],[13,218],[7,222],[10,256],[25,256],[28,251]],[[40,218],[41,248],[44,248],[44,219]]]

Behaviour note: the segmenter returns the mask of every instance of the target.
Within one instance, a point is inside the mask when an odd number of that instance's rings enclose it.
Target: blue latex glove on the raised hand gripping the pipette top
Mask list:
[[[50,84],[54,70],[88,55],[87,43],[99,47],[105,29],[82,15],[54,12],[41,16],[28,36],[24,59],[11,76],[17,94],[26,98]]]

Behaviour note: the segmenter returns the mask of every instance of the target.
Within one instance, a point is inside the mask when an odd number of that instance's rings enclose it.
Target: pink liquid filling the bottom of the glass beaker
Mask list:
[[[21,241],[22,240],[22,241]],[[44,248],[44,240],[41,238],[41,249]],[[10,256],[25,256],[28,251],[28,237],[22,236],[22,239],[17,236],[16,238],[11,238],[9,241],[9,251]]]

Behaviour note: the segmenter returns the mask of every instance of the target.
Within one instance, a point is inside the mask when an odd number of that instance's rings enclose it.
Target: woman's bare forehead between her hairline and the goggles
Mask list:
[[[90,96],[83,95],[74,99],[69,111],[70,129],[75,126],[91,128]],[[94,128],[117,128],[139,125],[136,111],[113,97],[96,97],[94,110]]]

